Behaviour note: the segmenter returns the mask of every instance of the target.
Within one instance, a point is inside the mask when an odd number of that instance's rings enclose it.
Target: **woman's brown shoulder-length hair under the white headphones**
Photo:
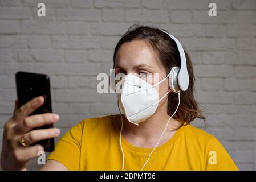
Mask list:
[[[168,32],[164,30],[165,32]],[[131,42],[132,40],[145,40],[151,44],[156,52],[157,57],[165,67],[166,75],[175,66],[180,67],[180,54],[176,43],[172,38],[165,32],[158,28],[148,26],[131,26],[127,32],[121,37],[119,42],[116,44],[115,52],[113,55],[113,67],[115,68],[115,57],[118,49],[125,42]],[[184,50],[185,51],[185,50]],[[181,92],[180,106],[177,112],[173,116],[174,119],[180,122],[181,126],[184,123],[190,123],[196,118],[204,120],[205,117],[202,114],[202,110],[199,109],[197,101],[194,98],[194,78],[193,67],[188,53],[186,53],[186,64],[189,73],[189,87],[186,91]],[[170,93],[168,96],[168,115],[172,115],[178,105],[178,94]]]

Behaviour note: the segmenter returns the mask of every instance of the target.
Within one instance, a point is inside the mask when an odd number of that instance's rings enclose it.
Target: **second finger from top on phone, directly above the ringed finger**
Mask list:
[[[27,131],[34,129],[35,127],[50,125],[57,121],[59,121],[58,114],[44,113],[44,114],[31,115],[23,119],[22,122],[19,122],[14,127],[14,130],[17,133],[27,133]]]

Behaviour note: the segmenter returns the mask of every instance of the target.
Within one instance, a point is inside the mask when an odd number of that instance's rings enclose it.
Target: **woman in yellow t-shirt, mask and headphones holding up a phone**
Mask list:
[[[192,63],[176,38],[157,28],[132,27],[117,43],[113,65],[115,74],[123,75],[115,88],[124,114],[72,127],[42,170],[238,169],[213,135],[190,125],[205,117],[194,99]],[[59,135],[58,129],[31,131],[59,119],[50,113],[27,117],[42,104],[43,97],[19,109],[16,102],[5,124],[3,169],[26,169],[43,150],[29,144]]]

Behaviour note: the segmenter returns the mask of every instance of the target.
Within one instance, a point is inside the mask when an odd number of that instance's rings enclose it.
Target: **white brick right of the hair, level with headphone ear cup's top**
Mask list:
[[[234,75],[234,69],[227,65],[194,65],[194,74],[197,77],[228,78]]]

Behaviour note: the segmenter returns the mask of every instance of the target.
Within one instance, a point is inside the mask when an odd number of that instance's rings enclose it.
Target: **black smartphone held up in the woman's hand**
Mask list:
[[[17,72],[15,74],[16,89],[18,96],[18,107],[32,98],[43,96],[44,103],[30,115],[52,113],[50,77],[39,73]],[[48,129],[53,125],[45,125],[35,129]],[[34,130],[35,130],[34,129]],[[54,138],[41,140],[32,145],[40,144],[47,152],[54,151]]]

